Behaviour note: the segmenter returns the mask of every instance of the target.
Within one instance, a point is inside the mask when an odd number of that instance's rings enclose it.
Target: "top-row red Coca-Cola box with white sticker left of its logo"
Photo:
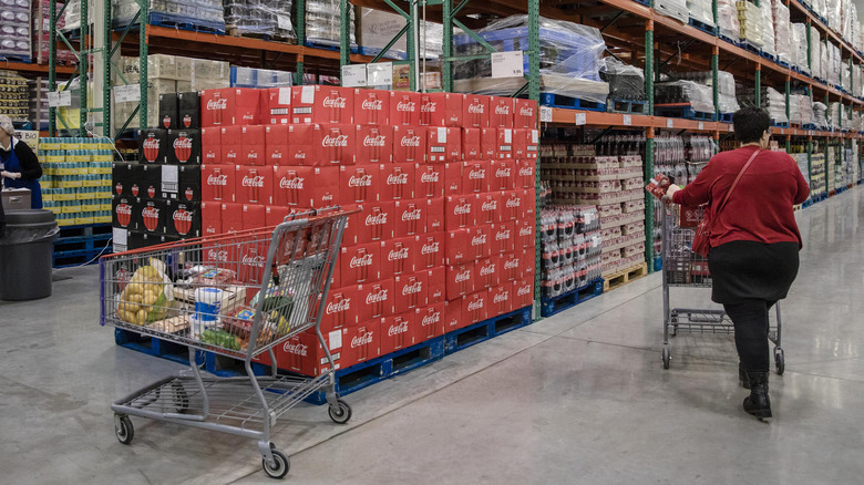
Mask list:
[[[353,123],[354,89],[307,85],[291,87],[291,123]]]

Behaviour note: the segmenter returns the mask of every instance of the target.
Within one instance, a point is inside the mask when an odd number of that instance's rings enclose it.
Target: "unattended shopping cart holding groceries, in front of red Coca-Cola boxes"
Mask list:
[[[270,442],[279,416],[325,389],[330,419],[347,423],[351,407],[336,394],[319,326],[349,215],[298,214],[276,227],[103,257],[102,324],[186,345],[191,364],[111,406],[120,442],[132,442],[128,416],[232,433],[257,440],[264,471],[281,478],[290,463]],[[277,373],[274,348],[312,328],[329,371]],[[203,375],[198,350],[243,360],[248,375]],[[255,375],[253,361],[265,352],[270,373]]]

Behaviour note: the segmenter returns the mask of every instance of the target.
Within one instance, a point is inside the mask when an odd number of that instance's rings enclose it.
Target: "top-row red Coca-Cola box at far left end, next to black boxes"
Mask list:
[[[202,126],[258,125],[261,123],[260,97],[258,90],[245,87],[202,91]]]

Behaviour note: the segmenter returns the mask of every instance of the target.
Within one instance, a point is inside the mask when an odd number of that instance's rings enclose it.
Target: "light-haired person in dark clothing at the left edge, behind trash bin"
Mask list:
[[[16,137],[16,128],[7,115],[0,115],[0,166],[3,186],[29,188],[30,207],[41,209],[42,188],[39,177],[42,176],[42,166],[30,146]]]

